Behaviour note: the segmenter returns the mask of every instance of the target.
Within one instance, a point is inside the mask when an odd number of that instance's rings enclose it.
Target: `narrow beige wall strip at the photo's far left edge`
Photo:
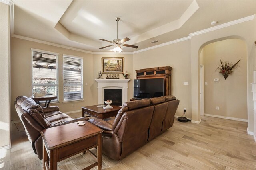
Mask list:
[[[0,2],[0,147],[10,145],[10,13]]]

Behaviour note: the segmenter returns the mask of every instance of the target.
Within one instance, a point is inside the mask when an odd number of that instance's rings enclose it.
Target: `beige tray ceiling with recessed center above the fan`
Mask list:
[[[92,52],[129,37],[137,51],[256,14],[256,0],[13,0],[14,34]],[[151,41],[158,43],[151,44]]]

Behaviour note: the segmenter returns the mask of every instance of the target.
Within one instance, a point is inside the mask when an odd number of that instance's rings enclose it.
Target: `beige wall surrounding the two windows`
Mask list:
[[[40,49],[45,51],[51,51],[59,53],[59,103],[51,103],[50,105],[56,105],[60,107],[60,111],[81,111],[82,106],[89,106],[97,104],[97,98],[95,97],[94,78],[96,78],[93,70],[93,56],[89,53],[80,51],[74,51],[70,49],[64,49],[55,47],[52,45],[46,45],[42,43],[36,43],[23,39],[12,37],[11,39],[11,102],[15,101],[15,98],[20,95],[31,96],[31,75],[32,75],[32,58],[31,48]],[[83,57],[83,78],[84,78],[84,101],[79,102],[63,102],[63,54],[74,55]],[[88,85],[85,86],[85,83]],[[75,104],[73,107],[72,104]],[[19,120],[14,108],[14,104],[11,105],[11,119]],[[82,116],[82,114],[81,114]]]

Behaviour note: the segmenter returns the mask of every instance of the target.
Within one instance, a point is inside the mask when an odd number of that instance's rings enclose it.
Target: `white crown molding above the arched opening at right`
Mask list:
[[[243,22],[246,22],[246,21],[253,20],[254,17],[255,17],[255,14],[252,15],[252,16],[248,16],[248,17],[244,17],[244,18],[238,19],[238,20],[234,20],[234,21],[230,21],[230,22],[227,22],[227,23],[223,23],[223,24],[217,25],[215,27],[210,27],[210,28],[207,28],[207,29],[203,29],[201,31],[190,33],[188,35],[190,37],[193,37],[193,36],[200,35],[200,34],[203,34],[203,33],[208,33],[210,31],[215,31],[215,30],[218,30],[218,29],[221,29],[221,28],[225,28],[225,27],[229,27],[229,26],[232,26],[232,25],[236,25],[238,23],[243,23]]]

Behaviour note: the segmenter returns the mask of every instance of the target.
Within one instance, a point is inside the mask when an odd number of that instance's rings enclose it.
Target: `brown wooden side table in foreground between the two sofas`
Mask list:
[[[89,170],[94,166],[98,166],[98,170],[102,168],[102,129],[93,125],[88,121],[84,121],[85,125],[70,123],[57,127],[44,129],[41,131],[43,138],[43,168],[47,170],[57,170],[57,163],[88,150],[97,162],[84,168]],[[89,149],[97,147],[97,156]],[[49,156],[49,165],[48,165]]]

